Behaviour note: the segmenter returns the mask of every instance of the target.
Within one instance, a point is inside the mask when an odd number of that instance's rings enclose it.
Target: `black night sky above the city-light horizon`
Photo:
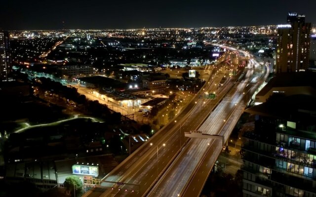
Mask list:
[[[0,0],[0,29],[276,25],[288,11],[316,24],[316,0]]]

